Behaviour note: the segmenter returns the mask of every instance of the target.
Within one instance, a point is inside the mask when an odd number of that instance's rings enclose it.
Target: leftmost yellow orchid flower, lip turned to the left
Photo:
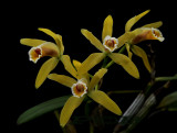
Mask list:
[[[46,79],[48,75],[56,67],[59,60],[62,58],[64,46],[62,43],[62,36],[53,33],[48,29],[39,29],[45,34],[52,36],[56,44],[52,42],[46,42],[37,38],[21,38],[20,43],[23,45],[31,46],[29,51],[30,60],[37,63],[41,57],[50,56],[40,68],[39,74],[35,79],[35,88],[38,89],[43,81]]]

